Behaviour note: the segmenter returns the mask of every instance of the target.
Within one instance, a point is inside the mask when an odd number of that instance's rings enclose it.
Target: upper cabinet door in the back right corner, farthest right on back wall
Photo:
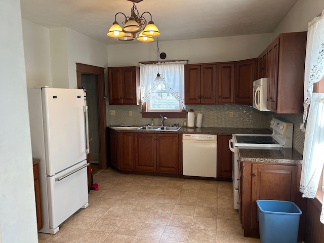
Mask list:
[[[252,104],[255,59],[236,62],[235,104]]]

